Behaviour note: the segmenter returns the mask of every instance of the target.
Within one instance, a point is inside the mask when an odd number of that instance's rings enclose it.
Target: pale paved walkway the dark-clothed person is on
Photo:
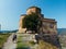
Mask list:
[[[13,34],[8,38],[2,49],[15,49],[16,48],[16,44],[12,41],[12,37],[13,37]]]

